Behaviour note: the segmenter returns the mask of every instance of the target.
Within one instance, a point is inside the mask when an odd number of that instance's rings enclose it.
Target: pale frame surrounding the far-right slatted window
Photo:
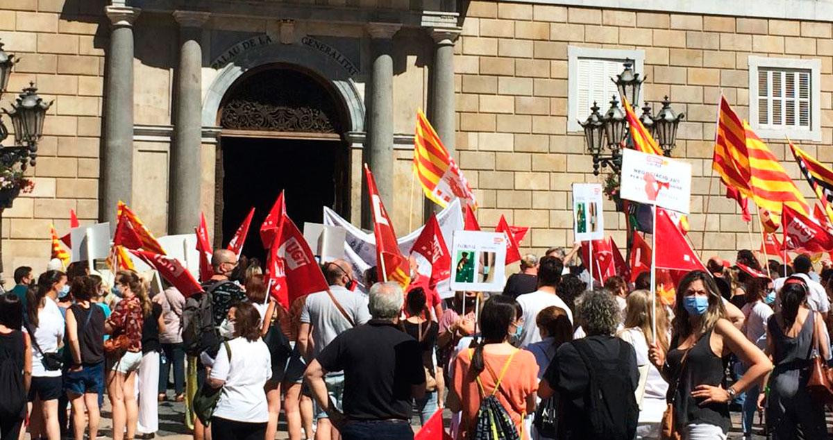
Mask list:
[[[796,69],[810,71],[810,129],[769,128],[758,122],[758,72],[765,69]],[[797,87],[797,86],[796,86]],[[799,117],[796,114],[796,118]],[[821,60],[818,58],[778,58],[749,56],[749,123],[761,138],[821,141]]]

